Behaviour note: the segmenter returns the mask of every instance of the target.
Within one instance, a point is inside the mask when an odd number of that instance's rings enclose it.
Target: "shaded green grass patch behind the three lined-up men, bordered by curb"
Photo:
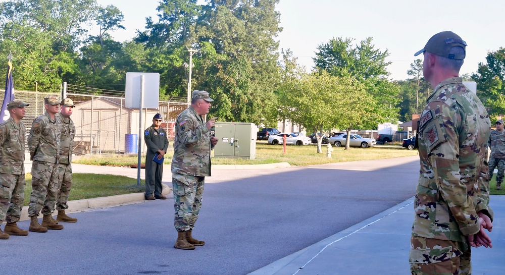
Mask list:
[[[25,201],[28,205],[30,201],[31,174],[25,176]],[[144,192],[145,181],[140,181],[137,187],[137,180],[124,176],[116,175],[98,175],[98,174],[78,174],[72,175],[72,189],[69,200],[90,199],[97,197],[107,197],[113,195],[122,195],[130,193]]]

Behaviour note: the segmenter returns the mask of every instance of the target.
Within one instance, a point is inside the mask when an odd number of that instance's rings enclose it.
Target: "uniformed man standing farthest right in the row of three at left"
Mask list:
[[[70,196],[70,188],[72,187],[72,149],[74,148],[75,126],[70,118],[72,108],[75,108],[74,101],[70,98],[65,98],[61,102],[62,111],[59,114],[59,119],[62,124],[61,134],[61,151],[58,159],[58,174],[60,182],[58,184],[58,197],[56,200],[56,209],[58,222],[75,223],[77,218],[69,217],[65,213],[68,208],[68,197]]]

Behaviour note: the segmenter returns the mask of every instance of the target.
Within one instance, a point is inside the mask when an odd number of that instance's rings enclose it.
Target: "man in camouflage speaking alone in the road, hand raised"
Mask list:
[[[204,193],[204,180],[211,176],[211,150],[218,139],[210,135],[215,118],[205,122],[211,102],[206,91],[193,91],[191,106],[175,122],[174,157],[172,159],[172,184],[174,189],[177,241],[174,247],[194,249],[202,246],[191,236]]]

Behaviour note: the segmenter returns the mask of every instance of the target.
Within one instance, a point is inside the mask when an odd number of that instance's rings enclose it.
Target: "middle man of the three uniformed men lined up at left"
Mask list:
[[[37,117],[28,135],[28,148],[32,163],[32,192],[28,205],[31,219],[29,231],[47,232],[47,229],[61,230],[52,214],[58,196],[58,158],[62,126],[56,114],[60,112],[61,101],[56,96],[44,97],[45,114]],[[38,214],[44,215],[42,225],[38,223]]]

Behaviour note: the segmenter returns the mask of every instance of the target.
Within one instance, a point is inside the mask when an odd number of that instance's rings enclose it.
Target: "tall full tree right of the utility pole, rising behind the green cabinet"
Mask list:
[[[275,117],[277,3],[211,0],[203,7],[196,26],[201,58],[195,62],[195,87],[216,95],[211,112],[218,118],[270,124]]]

